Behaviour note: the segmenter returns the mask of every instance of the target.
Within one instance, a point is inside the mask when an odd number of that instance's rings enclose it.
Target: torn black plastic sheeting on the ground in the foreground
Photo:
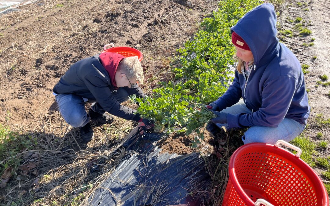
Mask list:
[[[143,132],[135,128],[126,141],[130,149],[139,150],[121,162],[115,171],[89,197],[90,205],[200,205],[189,197],[196,186],[206,189],[210,176],[198,153],[187,155],[159,154],[154,143],[139,146]],[[148,135],[147,135],[148,136]]]

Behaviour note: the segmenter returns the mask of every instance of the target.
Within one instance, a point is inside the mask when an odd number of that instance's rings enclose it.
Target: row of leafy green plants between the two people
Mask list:
[[[215,101],[228,88],[233,72],[235,48],[231,44],[230,27],[258,0],[223,0],[211,17],[205,18],[192,41],[178,49],[179,66],[172,69],[174,79],[163,82],[139,104],[137,112],[153,120],[156,132],[196,132],[193,147],[203,139],[200,129],[214,117],[205,104]]]

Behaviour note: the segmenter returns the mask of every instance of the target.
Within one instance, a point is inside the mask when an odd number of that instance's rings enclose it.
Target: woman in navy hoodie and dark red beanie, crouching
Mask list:
[[[211,122],[227,129],[249,127],[244,144],[294,139],[306,126],[310,106],[301,65],[276,37],[273,5],[252,9],[231,33],[237,70],[228,90],[210,104],[217,115]]]

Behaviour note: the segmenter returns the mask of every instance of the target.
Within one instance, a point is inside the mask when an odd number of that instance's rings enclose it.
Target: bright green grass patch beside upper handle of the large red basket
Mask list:
[[[291,144],[299,147],[302,150],[300,158],[310,166],[316,166],[316,162],[313,161],[313,155],[316,154],[316,144],[309,140],[304,134],[294,138]],[[296,153],[296,152],[294,152]]]

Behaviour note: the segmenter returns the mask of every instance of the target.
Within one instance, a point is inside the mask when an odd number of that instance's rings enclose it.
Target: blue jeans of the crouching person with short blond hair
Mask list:
[[[119,103],[123,103],[129,99],[128,96],[131,94],[120,87],[113,95]],[[90,117],[85,110],[87,99],[75,94],[56,94],[55,100],[63,119],[72,127],[83,127],[89,122]],[[93,103],[91,109],[100,114],[105,112],[99,103]]]

